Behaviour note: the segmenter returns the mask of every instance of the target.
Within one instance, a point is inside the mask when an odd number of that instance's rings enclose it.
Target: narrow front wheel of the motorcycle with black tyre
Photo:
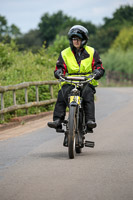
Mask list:
[[[76,107],[69,108],[69,134],[68,134],[68,155],[70,159],[75,156],[75,130],[76,130]]]

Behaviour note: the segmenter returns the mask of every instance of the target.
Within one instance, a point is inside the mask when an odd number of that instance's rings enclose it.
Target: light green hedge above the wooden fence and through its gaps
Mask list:
[[[47,53],[45,45],[43,45],[38,53],[33,54],[31,51],[17,51],[17,46],[13,42],[10,44],[0,43],[0,57],[3,61],[3,63],[1,63],[0,73],[0,85],[2,86],[16,85],[30,81],[54,80],[53,71],[55,69],[57,57],[54,55],[50,56]],[[58,88],[55,87],[55,96],[57,95],[57,90]],[[39,94],[40,100],[50,99],[48,86],[39,86]],[[12,92],[7,92],[4,96],[5,107],[13,105]],[[17,104],[24,103],[24,90],[18,90],[16,97]],[[35,101],[35,87],[30,87],[28,89],[28,100],[29,102]],[[47,111],[52,108],[52,106],[30,108],[29,114]],[[19,110],[17,113],[19,115],[26,114],[25,110]],[[13,115],[14,112],[11,112],[10,115],[6,114],[6,120]]]

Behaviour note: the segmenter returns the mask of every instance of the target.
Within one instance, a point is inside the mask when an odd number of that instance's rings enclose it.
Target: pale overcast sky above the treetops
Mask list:
[[[22,33],[36,29],[41,16],[62,10],[70,17],[103,23],[104,17],[112,17],[120,5],[132,5],[133,0],[0,0],[0,15],[6,17],[8,25],[15,24]]]

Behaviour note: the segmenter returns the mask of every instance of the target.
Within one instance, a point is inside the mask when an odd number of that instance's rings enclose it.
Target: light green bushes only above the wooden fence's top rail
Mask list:
[[[54,79],[53,71],[57,58],[48,56],[45,47],[42,47],[37,54],[33,54],[31,51],[14,51],[17,47],[11,48],[10,45],[0,43],[2,47],[0,57],[3,61],[0,73],[1,85]]]

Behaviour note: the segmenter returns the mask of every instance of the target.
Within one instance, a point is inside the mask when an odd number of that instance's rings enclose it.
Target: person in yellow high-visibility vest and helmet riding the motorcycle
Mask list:
[[[60,74],[68,76],[89,76],[94,73],[95,80],[87,83],[82,89],[82,98],[85,111],[85,122],[88,130],[95,128],[95,105],[94,94],[95,87],[98,85],[97,80],[104,75],[104,68],[98,52],[87,46],[88,30],[81,26],[75,25],[68,32],[70,47],[64,49],[57,60],[54,71],[55,78],[59,79]],[[66,107],[68,106],[68,95],[73,88],[70,84],[62,85],[58,92],[58,98],[53,113],[53,122],[48,122],[50,128],[59,129],[65,118]]]

